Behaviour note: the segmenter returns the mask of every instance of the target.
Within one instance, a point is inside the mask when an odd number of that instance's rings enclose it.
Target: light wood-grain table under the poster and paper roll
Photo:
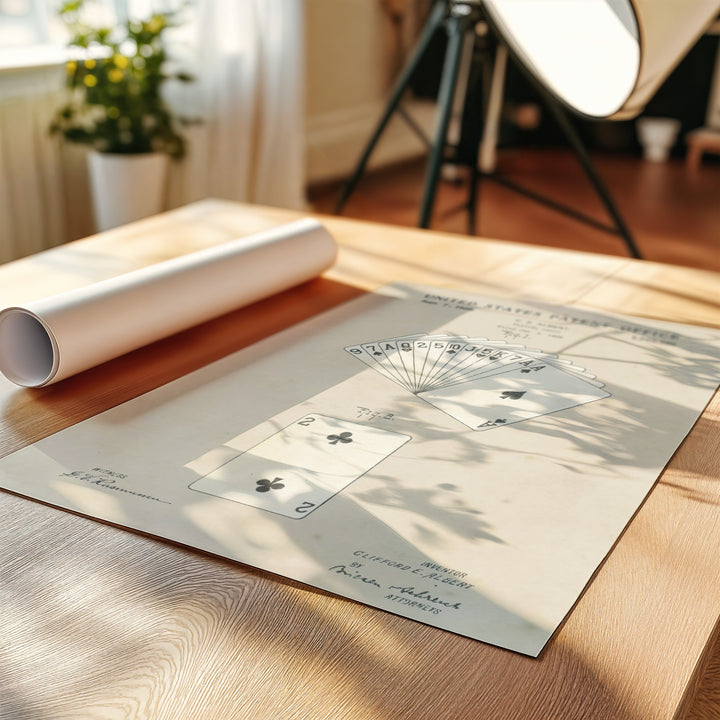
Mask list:
[[[0,267],[0,304],[297,216],[191,205]],[[323,278],[49,388],[2,380],[0,455],[392,281],[720,326],[716,274],[321,219]],[[716,396],[538,659],[0,492],[0,717],[720,717],[718,423]]]

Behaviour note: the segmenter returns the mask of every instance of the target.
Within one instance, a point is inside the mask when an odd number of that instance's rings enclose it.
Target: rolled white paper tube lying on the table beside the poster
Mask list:
[[[0,312],[0,372],[43,387],[320,275],[337,246],[306,218]]]

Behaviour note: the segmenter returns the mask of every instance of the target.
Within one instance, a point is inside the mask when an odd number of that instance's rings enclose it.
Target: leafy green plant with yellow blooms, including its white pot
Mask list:
[[[166,31],[176,13],[93,27],[85,0],[63,3],[59,16],[70,32],[67,99],[50,130],[90,147],[88,169],[96,224],[106,230],[163,209],[168,158],[180,158],[185,140],[162,97],[169,79]]]

